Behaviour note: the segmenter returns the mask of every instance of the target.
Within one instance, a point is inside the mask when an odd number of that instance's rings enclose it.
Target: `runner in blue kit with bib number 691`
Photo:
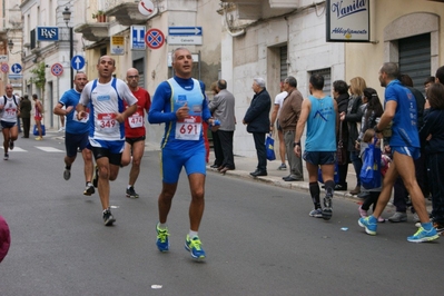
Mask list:
[[[156,226],[156,244],[160,251],[169,250],[167,217],[181,168],[185,167],[191,191],[190,230],[185,239],[185,248],[190,251],[193,258],[201,260],[206,257],[198,237],[205,207],[206,151],[203,122],[214,125],[215,120],[205,99],[204,83],[191,78],[191,52],[186,48],[177,48],[171,58],[175,77],[158,86],[148,114],[150,124],[165,122],[160,164],[162,189],[158,199],[159,223]]]

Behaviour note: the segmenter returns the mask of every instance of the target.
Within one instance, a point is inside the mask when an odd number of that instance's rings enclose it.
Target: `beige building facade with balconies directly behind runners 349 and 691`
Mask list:
[[[76,3],[78,3],[77,1]],[[111,55],[110,39],[121,37],[124,55],[114,56],[117,61],[117,78],[124,79],[128,68],[139,70],[140,86],[152,96],[156,87],[172,75],[170,52],[177,47],[187,47],[195,58],[194,77],[207,86],[216,81],[220,73],[220,31],[221,22],[218,1],[203,0],[151,0],[154,11],[149,16],[139,12],[139,2],[131,0],[85,1],[87,19],[75,27],[82,33],[85,55],[88,60],[87,72],[91,79],[97,76],[96,63],[100,56]],[[105,22],[91,18],[91,11],[101,10]],[[149,30],[158,30],[164,34],[164,45],[144,50],[131,49],[131,26],[142,26]],[[201,28],[199,40],[171,40],[168,36],[171,28]],[[190,39],[190,38],[188,38]],[[191,38],[193,39],[193,38]],[[158,46],[158,45],[157,45]],[[162,126],[147,128],[147,141],[159,145],[164,134]]]

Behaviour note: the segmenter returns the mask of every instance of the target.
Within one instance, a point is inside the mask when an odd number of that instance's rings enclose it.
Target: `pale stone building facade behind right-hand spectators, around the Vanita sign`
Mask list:
[[[444,65],[443,1],[349,0],[330,4],[367,4],[369,42],[327,42],[327,1],[223,0],[221,76],[236,97],[243,118],[254,96],[253,78],[263,77],[272,98],[279,80],[294,76],[308,96],[308,79],[318,72],[330,95],[334,80],[363,77],[383,98],[378,81],[383,62],[398,62],[401,71],[422,82]],[[347,9],[347,8],[344,8]],[[239,120],[238,120],[239,121]],[[244,127],[235,132],[235,154],[254,156],[254,141]]]

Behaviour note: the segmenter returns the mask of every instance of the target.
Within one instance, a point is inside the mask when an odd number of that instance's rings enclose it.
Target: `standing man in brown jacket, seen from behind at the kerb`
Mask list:
[[[303,95],[297,90],[297,81],[293,76],[288,76],[284,80],[284,90],[288,96],[284,99],[283,107],[279,114],[279,125],[284,132],[285,149],[287,151],[287,159],[289,165],[289,175],[283,177],[285,181],[303,181],[303,160],[296,157],[293,151],[293,145],[296,136],[296,125],[300,116],[303,106]]]

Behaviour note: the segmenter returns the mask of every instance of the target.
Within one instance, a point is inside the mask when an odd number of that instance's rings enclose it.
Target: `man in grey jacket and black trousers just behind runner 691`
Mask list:
[[[225,174],[227,170],[235,169],[235,158],[233,155],[233,136],[236,128],[235,97],[227,90],[227,81],[223,79],[217,81],[217,89],[218,93],[208,105],[208,108],[213,117],[220,121],[220,127],[216,132],[224,154],[219,171]]]

